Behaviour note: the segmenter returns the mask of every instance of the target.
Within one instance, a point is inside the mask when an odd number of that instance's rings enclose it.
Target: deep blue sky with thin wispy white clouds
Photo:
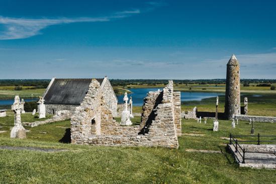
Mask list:
[[[0,78],[276,78],[275,1],[0,1]]]

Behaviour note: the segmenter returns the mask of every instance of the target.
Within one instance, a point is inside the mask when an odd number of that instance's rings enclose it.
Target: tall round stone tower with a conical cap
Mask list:
[[[227,63],[224,112],[229,120],[240,115],[240,64],[234,54]]]

